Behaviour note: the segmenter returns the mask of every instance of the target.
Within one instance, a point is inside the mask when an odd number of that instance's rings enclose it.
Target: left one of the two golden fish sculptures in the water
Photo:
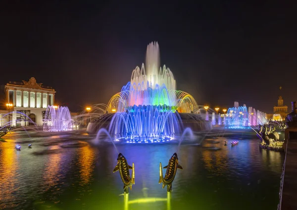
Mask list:
[[[132,178],[130,177],[129,169],[132,169]],[[113,169],[113,172],[116,171],[120,172],[120,176],[124,184],[124,194],[129,193],[129,187],[130,190],[132,190],[132,185],[135,184],[134,163],[132,163],[132,166],[128,165],[127,159],[119,153],[117,157],[117,164]]]

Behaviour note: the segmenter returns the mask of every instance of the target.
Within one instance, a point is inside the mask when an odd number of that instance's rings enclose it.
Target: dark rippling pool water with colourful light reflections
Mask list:
[[[225,138],[182,145],[184,169],[177,171],[171,194],[158,184],[159,162],[167,164],[177,145],[118,145],[128,164],[135,164],[135,185],[119,196],[123,183],[112,172],[118,154],[110,143],[91,147],[88,140],[81,144],[77,136],[63,134],[35,137],[28,149],[30,140],[14,138],[0,143],[0,209],[277,209],[284,154],[259,150],[258,140],[234,147],[224,146]],[[21,151],[13,149],[15,142]]]

